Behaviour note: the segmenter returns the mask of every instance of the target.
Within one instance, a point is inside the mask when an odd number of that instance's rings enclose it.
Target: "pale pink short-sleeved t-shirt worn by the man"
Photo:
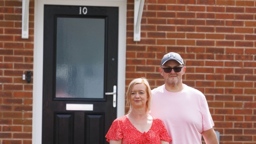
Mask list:
[[[180,92],[169,92],[165,85],[152,90],[150,114],[161,119],[172,144],[202,143],[202,132],[214,126],[202,92],[185,85]]]

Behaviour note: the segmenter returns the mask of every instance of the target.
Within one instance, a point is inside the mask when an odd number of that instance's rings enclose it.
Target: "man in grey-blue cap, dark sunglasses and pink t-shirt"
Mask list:
[[[162,119],[172,144],[218,143],[205,95],[182,83],[186,67],[177,53],[164,55],[160,74],[165,84],[152,90],[150,114]]]

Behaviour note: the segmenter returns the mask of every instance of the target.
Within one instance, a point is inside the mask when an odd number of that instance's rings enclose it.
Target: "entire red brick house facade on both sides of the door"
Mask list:
[[[127,1],[126,87],[158,72],[168,52],[185,60],[183,82],[202,91],[220,143],[256,142],[256,2],[146,0],[141,41],[133,41],[134,1]],[[32,143],[35,2],[29,6],[29,39],[21,38],[22,1],[0,0],[0,143]],[[128,108],[126,108],[127,111]]]

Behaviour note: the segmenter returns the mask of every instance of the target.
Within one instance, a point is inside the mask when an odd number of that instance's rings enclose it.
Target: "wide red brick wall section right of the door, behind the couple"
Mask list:
[[[187,67],[183,82],[205,94],[221,143],[256,143],[255,1],[146,0],[140,42],[133,41],[133,4],[126,85],[139,77],[152,88],[164,84],[161,59],[177,52]]]

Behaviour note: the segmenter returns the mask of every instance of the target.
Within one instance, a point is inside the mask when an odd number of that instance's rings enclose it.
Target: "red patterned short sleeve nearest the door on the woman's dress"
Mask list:
[[[110,141],[110,139],[111,140],[122,139],[123,138],[122,122],[119,121],[118,119],[115,119],[105,137],[107,138],[108,142]]]

